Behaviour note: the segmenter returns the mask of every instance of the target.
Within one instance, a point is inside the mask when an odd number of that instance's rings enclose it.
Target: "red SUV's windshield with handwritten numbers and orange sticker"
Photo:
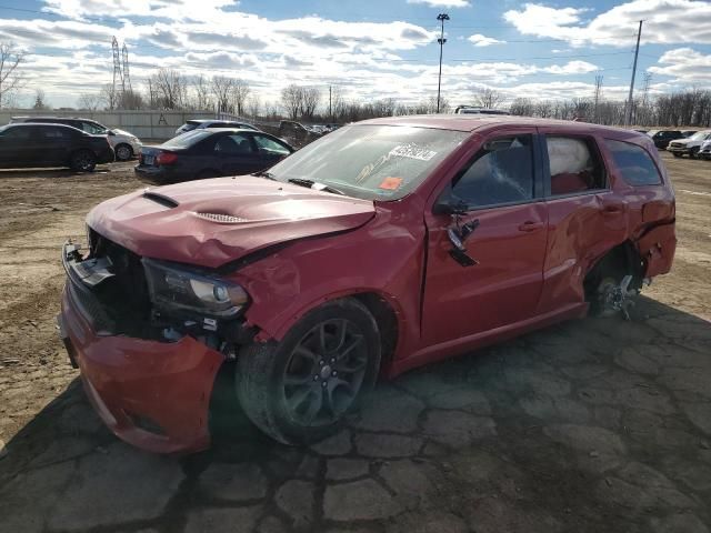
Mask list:
[[[468,137],[461,131],[350,125],[272,167],[280,181],[309,180],[365,200],[399,200]]]

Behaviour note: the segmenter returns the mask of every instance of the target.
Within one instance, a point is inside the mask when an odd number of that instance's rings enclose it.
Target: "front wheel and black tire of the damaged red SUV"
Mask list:
[[[306,314],[281,342],[254,343],[237,362],[237,395],[249,419],[284,444],[308,444],[339,430],[380,369],[380,333],[354,299]]]

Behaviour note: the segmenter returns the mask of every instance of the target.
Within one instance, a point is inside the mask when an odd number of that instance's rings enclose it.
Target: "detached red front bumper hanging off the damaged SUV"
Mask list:
[[[189,335],[159,342],[97,331],[87,304],[91,294],[82,290],[68,278],[58,322],[99,416],[143,450],[208,447],[210,396],[223,355]]]

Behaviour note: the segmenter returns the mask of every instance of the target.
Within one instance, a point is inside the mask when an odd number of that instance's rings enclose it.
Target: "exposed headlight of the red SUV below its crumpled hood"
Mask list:
[[[249,296],[237,283],[143,259],[151,300],[157,308],[192,311],[218,318],[238,314]]]

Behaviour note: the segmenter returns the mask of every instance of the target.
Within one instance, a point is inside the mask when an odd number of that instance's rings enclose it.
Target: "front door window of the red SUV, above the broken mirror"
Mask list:
[[[454,178],[451,193],[470,208],[531,200],[533,149],[531,135],[487,141]]]

